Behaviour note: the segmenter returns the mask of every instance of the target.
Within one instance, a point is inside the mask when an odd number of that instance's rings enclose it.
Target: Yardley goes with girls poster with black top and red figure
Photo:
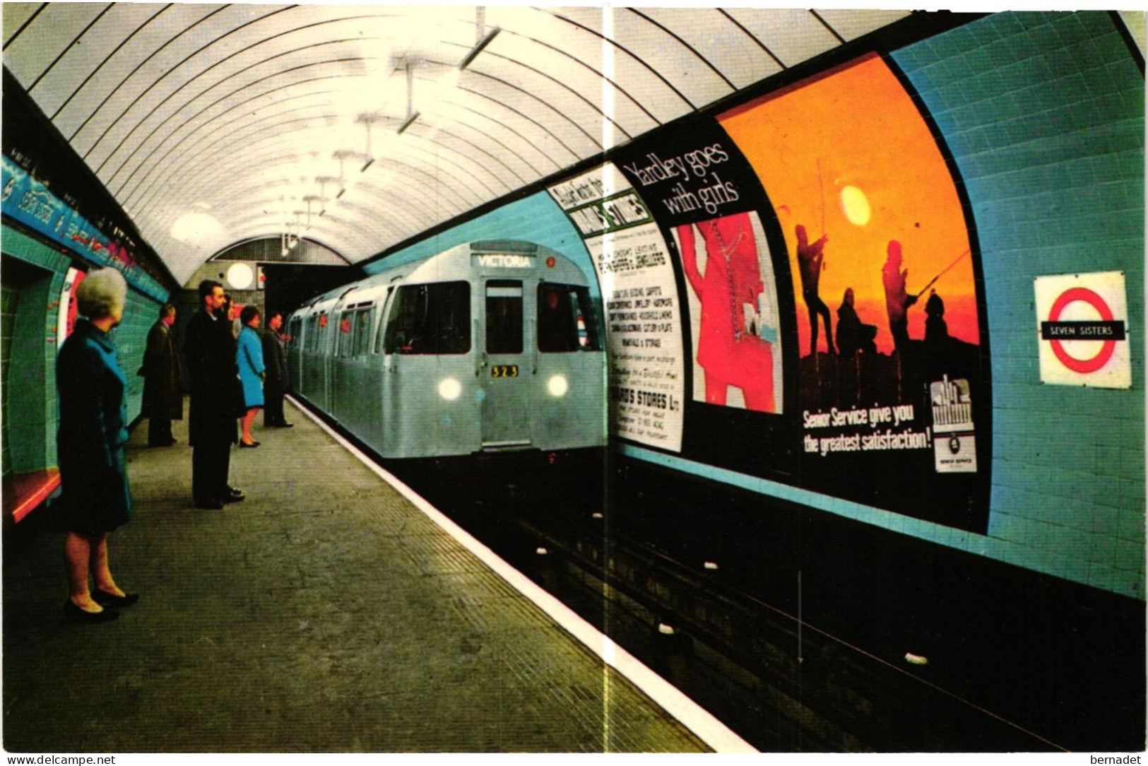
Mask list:
[[[777,281],[761,219],[751,209],[760,185],[713,119],[659,139],[637,142],[616,162],[669,231],[684,272],[692,400],[779,413]]]

